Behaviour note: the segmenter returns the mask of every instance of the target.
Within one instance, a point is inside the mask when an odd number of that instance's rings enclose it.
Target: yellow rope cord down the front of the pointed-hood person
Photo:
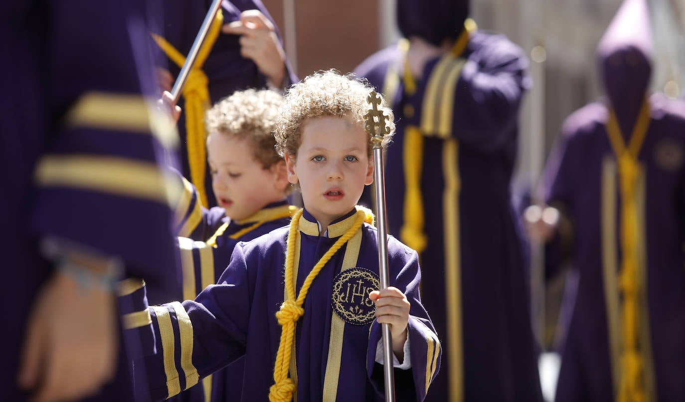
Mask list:
[[[606,131],[616,154],[621,182],[621,273],[619,288],[623,293],[623,350],[621,351],[621,381],[619,402],[643,402],[646,400],[643,378],[643,362],[638,351],[638,227],[635,204],[635,180],[638,175],[638,155],[649,129],[649,103],[643,101],[640,114],[633,127],[630,143],[626,149],[621,128],[614,110],[609,110]],[[618,375],[616,373],[615,375]]]

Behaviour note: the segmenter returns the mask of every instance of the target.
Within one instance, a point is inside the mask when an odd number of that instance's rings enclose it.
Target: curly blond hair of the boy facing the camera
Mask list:
[[[366,98],[373,87],[366,80],[353,75],[340,75],[338,71],[319,71],[309,75],[290,87],[281,104],[281,112],[276,122],[274,136],[278,154],[297,160],[297,149],[301,145],[302,128],[310,118],[320,116],[351,117],[352,121],[364,128],[364,115],[369,112]],[[379,107],[388,116],[390,134],[383,138],[386,148],[395,134],[395,117],[385,102]],[[367,146],[369,156],[373,153],[371,136]]]

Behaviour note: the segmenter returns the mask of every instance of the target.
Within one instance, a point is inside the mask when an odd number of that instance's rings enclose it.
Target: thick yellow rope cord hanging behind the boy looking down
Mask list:
[[[207,192],[205,190],[205,164],[206,164],[206,131],[205,112],[210,106],[210,95],[207,88],[208,78],[202,71],[202,66],[207,60],[216,38],[219,37],[223,14],[221,10],[216,13],[205,42],[193,64],[186,85],[183,88],[183,97],[186,99],[184,113],[186,114],[186,143],[188,144],[188,166],[190,166],[190,181],[195,184],[199,199],[204,206],[208,206]],[[157,45],[177,66],[182,67],[186,62],[184,55],[159,35],[152,34]]]

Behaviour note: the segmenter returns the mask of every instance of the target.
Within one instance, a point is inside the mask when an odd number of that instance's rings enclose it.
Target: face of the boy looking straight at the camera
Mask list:
[[[307,210],[327,226],[347,214],[373,181],[366,131],[349,119],[312,118],[303,125],[296,160],[286,155],[288,181],[299,182]]]

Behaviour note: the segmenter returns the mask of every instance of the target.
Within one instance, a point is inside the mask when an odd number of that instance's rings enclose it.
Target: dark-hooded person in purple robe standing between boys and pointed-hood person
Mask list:
[[[356,73],[397,118],[388,229],[419,251],[421,300],[445,351],[427,400],[541,401],[509,188],[528,63],[467,16],[469,1],[399,0],[405,38]]]

